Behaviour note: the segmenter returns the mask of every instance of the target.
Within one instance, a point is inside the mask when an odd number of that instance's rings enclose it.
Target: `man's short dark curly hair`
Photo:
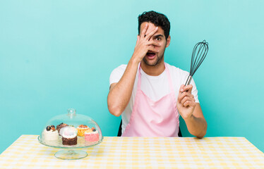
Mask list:
[[[150,22],[155,26],[162,27],[166,39],[169,37],[169,30],[171,28],[171,25],[166,15],[157,13],[155,11],[143,12],[141,15],[138,15],[138,35],[140,34],[140,25],[144,22]]]

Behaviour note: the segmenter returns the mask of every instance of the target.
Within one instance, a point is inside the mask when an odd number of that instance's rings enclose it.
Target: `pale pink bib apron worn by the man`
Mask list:
[[[133,111],[122,137],[178,137],[179,113],[172,79],[165,64],[170,93],[152,101],[141,90],[141,73],[138,68],[138,88]]]

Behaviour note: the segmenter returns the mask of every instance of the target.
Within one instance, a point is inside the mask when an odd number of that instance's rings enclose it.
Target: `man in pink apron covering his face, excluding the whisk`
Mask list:
[[[110,76],[109,112],[122,116],[124,137],[178,137],[179,115],[188,131],[203,138],[207,123],[196,84],[184,86],[188,72],[164,63],[170,23],[155,11],[138,16],[138,37],[131,59]]]

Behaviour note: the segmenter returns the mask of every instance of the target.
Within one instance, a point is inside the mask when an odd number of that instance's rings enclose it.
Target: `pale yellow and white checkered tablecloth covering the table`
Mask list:
[[[244,137],[104,137],[79,160],[54,157],[37,135],[22,135],[0,155],[0,168],[264,168],[264,154]]]

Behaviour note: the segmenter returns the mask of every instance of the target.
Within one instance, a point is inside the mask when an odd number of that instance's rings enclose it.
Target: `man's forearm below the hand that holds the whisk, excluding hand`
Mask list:
[[[190,118],[184,119],[187,125],[188,131],[199,139],[203,138],[207,130],[207,122],[205,118],[196,118],[191,115]]]

